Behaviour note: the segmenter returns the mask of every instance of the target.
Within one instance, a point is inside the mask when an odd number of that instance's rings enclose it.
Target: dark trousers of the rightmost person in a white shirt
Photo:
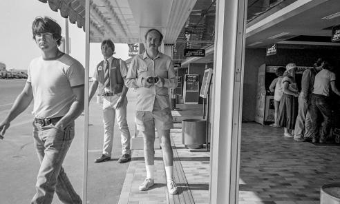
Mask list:
[[[326,139],[328,134],[330,134],[330,128],[332,128],[332,110],[329,97],[312,94],[312,100],[308,110],[312,118],[312,132],[314,133],[315,139],[319,139],[321,123],[323,123],[321,139]]]

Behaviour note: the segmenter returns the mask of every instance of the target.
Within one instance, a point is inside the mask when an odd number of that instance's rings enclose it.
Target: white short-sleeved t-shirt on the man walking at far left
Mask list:
[[[68,54],[55,59],[33,59],[27,81],[32,85],[35,118],[64,116],[75,100],[73,87],[84,85],[84,67]]]

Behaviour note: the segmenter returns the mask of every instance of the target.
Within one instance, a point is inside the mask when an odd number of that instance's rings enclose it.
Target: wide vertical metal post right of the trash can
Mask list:
[[[210,203],[238,203],[247,1],[216,3]]]

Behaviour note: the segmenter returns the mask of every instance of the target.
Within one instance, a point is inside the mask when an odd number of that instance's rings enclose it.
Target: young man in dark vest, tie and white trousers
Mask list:
[[[119,163],[131,160],[130,131],[126,121],[126,93],[128,88],[124,85],[127,73],[126,63],[122,59],[113,57],[115,44],[110,39],[102,41],[101,45],[104,60],[102,60],[93,73],[93,83],[90,88],[90,100],[95,94],[99,85],[100,95],[103,100],[103,121],[104,121],[104,145],[102,156],[95,159],[95,163],[109,161],[111,159],[113,145],[113,128],[115,116],[121,132],[122,156]]]

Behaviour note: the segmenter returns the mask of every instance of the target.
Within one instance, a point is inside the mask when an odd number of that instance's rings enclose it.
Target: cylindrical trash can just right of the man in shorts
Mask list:
[[[202,148],[205,144],[206,120],[182,120],[182,144],[190,149]]]

